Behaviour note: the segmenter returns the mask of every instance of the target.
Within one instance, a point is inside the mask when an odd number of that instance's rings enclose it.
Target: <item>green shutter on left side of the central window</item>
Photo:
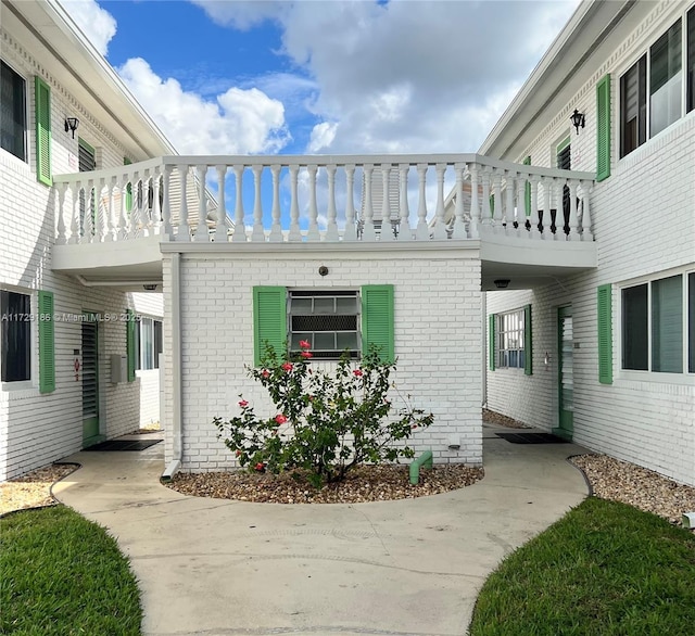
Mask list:
[[[287,347],[287,290],[280,287],[253,288],[253,364],[261,366],[265,345],[278,356]]]

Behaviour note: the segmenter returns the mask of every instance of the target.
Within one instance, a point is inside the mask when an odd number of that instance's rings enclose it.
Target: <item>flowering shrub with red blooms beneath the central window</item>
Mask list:
[[[303,469],[320,487],[344,479],[359,463],[415,455],[401,442],[429,427],[433,416],[403,398],[401,408],[391,404],[389,378],[395,365],[381,361],[372,347],[358,368],[353,369],[343,355],[331,373],[311,367],[308,342],[300,342],[300,347],[296,359],[287,360],[266,346],[263,367],[248,368],[249,376],[267,390],[274,415],[258,418],[239,395],[240,416],[213,420],[217,437],[224,437],[241,466],[273,473]]]

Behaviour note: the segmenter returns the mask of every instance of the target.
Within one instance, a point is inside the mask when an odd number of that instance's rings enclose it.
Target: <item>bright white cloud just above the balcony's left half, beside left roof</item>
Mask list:
[[[276,153],[289,141],[282,103],[256,88],[230,88],[210,101],[139,58],[118,73],[181,154]]]

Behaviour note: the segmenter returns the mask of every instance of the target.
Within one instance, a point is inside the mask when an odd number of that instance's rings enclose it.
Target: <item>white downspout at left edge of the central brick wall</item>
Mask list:
[[[169,481],[181,467],[181,255],[172,254],[172,343],[169,360],[172,365],[172,435],[174,458],[162,473],[163,481]]]

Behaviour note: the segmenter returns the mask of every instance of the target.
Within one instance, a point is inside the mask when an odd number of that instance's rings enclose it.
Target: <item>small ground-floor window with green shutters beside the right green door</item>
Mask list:
[[[490,316],[490,369],[523,369],[532,373],[531,305]]]

